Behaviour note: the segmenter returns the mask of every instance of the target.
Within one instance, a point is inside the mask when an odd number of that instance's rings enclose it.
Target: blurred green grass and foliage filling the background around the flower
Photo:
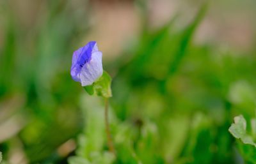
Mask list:
[[[104,72],[86,87],[103,97],[113,91],[109,153],[102,98],[70,77],[72,52],[95,30],[91,6],[76,2],[44,1],[26,26],[1,2],[0,130],[12,127],[0,134],[2,163],[13,152],[43,164],[255,163],[256,51],[195,43],[205,6],[187,24],[177,16],[152,30],[147,1],[136,1],[145,12],[133,46],[103,62],[113,85]]]

